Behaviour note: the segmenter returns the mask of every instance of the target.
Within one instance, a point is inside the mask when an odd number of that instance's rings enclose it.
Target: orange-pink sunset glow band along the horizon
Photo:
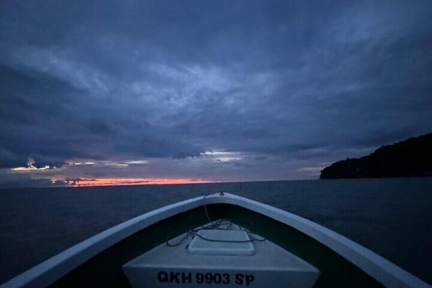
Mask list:
[[[211,183],[214,181],[202,179],[181,178],[83,178],[77,181],[65,181],[71,187],[88,186],[123,186],[123,185],[164,185],[164,184],[196,184]]]

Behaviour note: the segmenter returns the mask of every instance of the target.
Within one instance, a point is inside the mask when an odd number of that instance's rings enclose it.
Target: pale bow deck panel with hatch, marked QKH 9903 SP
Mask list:
[[[178,245],[163,243],[124,265],[132,286],[172,283],[200,287],[205,283],[285,288],[290,283],[290,287],[300,288],[312,287],[319,276],[318,269],[271,241],[252,234],[250,239],[245,228],[205,228],[198,235],[184,233],[170,240]]]

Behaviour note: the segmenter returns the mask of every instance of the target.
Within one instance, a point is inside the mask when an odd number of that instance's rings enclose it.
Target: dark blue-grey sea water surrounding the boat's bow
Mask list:
[[[432,178],[0,190],[0,283],[113,225],[218,191],[317,222],[432,283]]]

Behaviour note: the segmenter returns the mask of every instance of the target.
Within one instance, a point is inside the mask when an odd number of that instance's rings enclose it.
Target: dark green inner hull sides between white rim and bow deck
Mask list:
[[[382,287],[342,256],[308,235],[270,217],[232,204],[207,204],[211,219],[250,221],[250,230],[304,259],[321,273],[314,287]],[[203,206],[155,223],[80,265],[52,287],[107,285],[130,287],[122,266],[150,249],[164,244],[167,235],[178,236],[208,222]],[[170,237],[171,238],[171,237]],[[117,263],[116,265],[113,265]]]

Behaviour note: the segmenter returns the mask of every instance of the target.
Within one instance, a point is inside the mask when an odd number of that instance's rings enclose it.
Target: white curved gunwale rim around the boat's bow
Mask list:
[[[204,204],[237,205],[291,226],[338,253],[385,286],[430,287],[382,256],[317,223],[245,197],[231,193],[215,193],[170,204],[104,230],[12,278],[0,285],[0,288],[48,286],[130,235]]]

